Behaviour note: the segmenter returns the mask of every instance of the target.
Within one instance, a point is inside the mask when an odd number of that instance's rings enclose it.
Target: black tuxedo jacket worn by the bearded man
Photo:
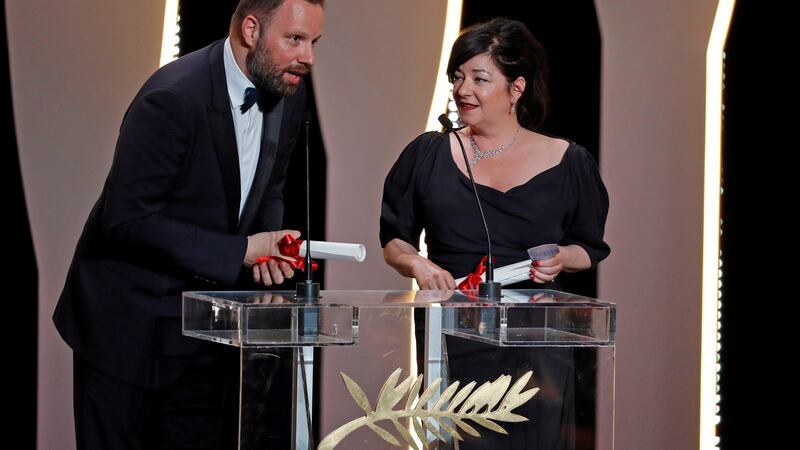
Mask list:
[[[218,41],[162,67],[134,98],[53,316],[80,357],[144,387],[172,382],[204,345],[181,335],[181,292],[247,288],[246,236],[283,221],[304,87],[267,99],[240,220],[223,49]]]

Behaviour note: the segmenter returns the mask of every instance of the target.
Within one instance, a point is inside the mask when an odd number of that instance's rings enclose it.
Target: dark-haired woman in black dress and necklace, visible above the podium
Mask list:
[[[608,256],[608,194],[596,162],[574,142],[536,132],[547,111],[547,63],[525,25],[495,19],[464,30],[447,74],[496,267],[556,243],[560,252],[533,263],[530,279],[557,288],[560,272]],[[430,259],[417,253],[423,229]],[[475,269],[486,235],[455,136],[422,134],[400,155],[384,185],[380,238],[386,262],[422,289],[453,289],[454,278]]]

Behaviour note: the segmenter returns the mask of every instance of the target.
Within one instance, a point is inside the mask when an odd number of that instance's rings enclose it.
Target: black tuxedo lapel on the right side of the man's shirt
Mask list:
[[[264,197],[264,190],[269,184],[272,167],[275,165],[285,101],[280,99],[277,103],[272,104],[274,106],[268,111],[264,111],[261,151],[258,153],[258,165],[253,178],[253,185],[250,187],[250,194],[247,196],[242,218],[239,221],[239,232],[246,231],[253,222],[256,211],[258,211],[258,207],[261,204],[261,199]]]

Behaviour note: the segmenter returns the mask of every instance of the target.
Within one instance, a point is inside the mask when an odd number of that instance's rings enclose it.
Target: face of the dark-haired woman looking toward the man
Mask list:
[[[472,57],[453,74],[453,98],[464,125],[507,120],[512,104],[510,83],[488,53]]]

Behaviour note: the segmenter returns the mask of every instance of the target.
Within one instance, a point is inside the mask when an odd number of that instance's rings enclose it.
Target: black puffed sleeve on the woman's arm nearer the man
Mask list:
[[[431,167],[429,159],[440,143],[439,133],[420,135],[406,146],[386,175],[381,204],[381,247],[392,239],[400,239],[419,250],[423,225],[415,214],[418,180],[424,176],[424,168]]]

